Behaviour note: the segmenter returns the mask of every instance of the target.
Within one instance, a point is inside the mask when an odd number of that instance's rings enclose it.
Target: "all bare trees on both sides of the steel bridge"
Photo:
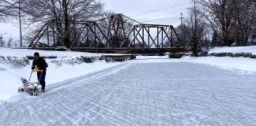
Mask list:
[[[96,0],[0,0],[0,21],[17,18],[18,9],[26,26],[23,31],[27,33],[24,35],[27,41],[36,36],[44,24],[54,20],[45,35],[53,36],[46,39],[54,43],[47,45],[67,47],[83,30],[79,24],[73,24],[73,20],[98,20],[112,14],[104,11],[104,4]],[[255,17],[255,0],[196,0],[196,9],[191,6],[189,17],[176,29],[184,43],[191,45],[191,41],[196,40],[197,47],[231,46],[232,43],[247,46],[256,38]],[[101,27],[107,29],[104,24],[108,22],[100,23]]]

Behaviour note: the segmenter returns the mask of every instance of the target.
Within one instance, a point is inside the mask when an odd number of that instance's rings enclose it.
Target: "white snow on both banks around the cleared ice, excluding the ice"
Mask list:
[[[247,47],[222,47],[215,48],[210,52],[250,52],[254,53],[256,46]],[[64,60],[74,57],[100,57],[103,54],[81,53],[81,52],[65,52],[65,51],[43,51],[43,50],[19,50],[19,49],[6,49],[0,48],[0,56],[11,57],[25,57],[32,56],[34,52],[38,51],[43,56],[57,56],[57,59],[46,59],[49,64],[47,69],[46,82],[47,85],[58,83],[63,80],[69,80],[73,77],[82,76],[91,72],[96,72],[102,69],[122,64],[120,62],[106,63],[105,61],[96,61],[92,64],[62,64],[56,65],[52,61]],[[32,61],[30,61],[31,64]],[[183,57],[182,59],[170,59],[167,56],[164,57],[142,57],[138,56],[133,62],[194,62],[203,65],[215,66],[219,69],[228,69],[239,73],[252,74],[256,72],[256,60],[244,57]],[[29,78],[31,65],[25,67],[15,68],[12,65],[2,64],[0,65],[0,104],[5,102],[14,95],[18,95],[17,88],[21,86],[21,76]],[[32,82],[36,82],[36,73],[32,74]]]

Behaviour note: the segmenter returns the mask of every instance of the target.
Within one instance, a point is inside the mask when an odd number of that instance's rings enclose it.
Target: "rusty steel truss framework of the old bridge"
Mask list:
[[[36,43],[45,35],[51,24],[55,24],[55,21],[51,20],[44,24],[28,47],[36,47]],[[82,29],[72,40],[71,48],[171,48],[176,46],[174,37],[180,45],[183,44],[172,25],[141,24],[122,14],[96,21],[73,20],[70,24],[79,25]]]

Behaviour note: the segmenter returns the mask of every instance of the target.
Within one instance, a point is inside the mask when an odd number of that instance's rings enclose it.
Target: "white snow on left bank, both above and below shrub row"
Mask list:
[[[82,64],[65,64],[58,65],[53,61],[70,60],[76,57],[100,57],[103,54],[81,53],[81,52],[67,52],[67,51],[44,51],[44,50],[20,50],[20,49],[6,49],[0,48],[0,56],[2,57],[26,57],[33,56],[35,52],[39,52],[41,56],[57,56],[55,59],[46,59],[49,67],[47,68],[46,83],[51,85],[63,80],[69,80],[73,77],[96,72],[115,65],[116,63],[107,63],[105,61],[96,61],[94,63]],[[0,61],[1,62],[1,61]],[[17,89],[21,87],[21,77],[29,78],[31,73],[32,61],[30,65],[24,67],[13,66],[8,62],[0,64],[0,104],[9,98],[18,95]],[[36,72],[32,73],[31,82],[37,82]]]

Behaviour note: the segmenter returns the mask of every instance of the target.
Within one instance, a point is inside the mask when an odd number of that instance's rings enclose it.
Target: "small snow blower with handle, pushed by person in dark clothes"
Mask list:
[[[23,83],[23,87],[20,87],[18,89],[18,92],[24,92],[25,91],[25,92],[28,92],[28,94],[32,95],[32,96],[39,95],[39,90],[37,89],[37,87],[40,85],[39,80],[38,80],[37,83],[30,83],[30,79],[31,79],[31,76],[32,76],[33,72],[41,72],[41,75],[40,75],[40,79],[41,79],[43,70],[40,70],[36,67],[36,69],[33,69],[32,72],[30,73],[29,80],[26,80],[23,77],[21,77],[21,82]]]

